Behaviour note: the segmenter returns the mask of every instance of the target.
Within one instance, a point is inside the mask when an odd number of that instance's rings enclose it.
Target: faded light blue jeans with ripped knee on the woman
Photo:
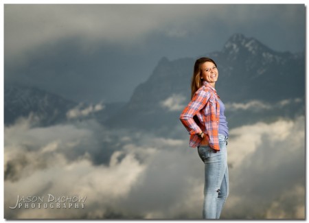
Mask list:
[[[220,151],[209,145],[198,147],[198,155],[205,163],[204,219],[219,219],[229,195],[229,170],[227,168],[227,137],[219,134]]]

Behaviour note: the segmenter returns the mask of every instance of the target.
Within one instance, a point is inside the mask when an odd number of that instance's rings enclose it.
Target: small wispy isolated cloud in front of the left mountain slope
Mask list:
[[[103,110],[105,106],[102,103],[89,105],[87,108],[82,108],[83,104],[78,104],[75,108],[72,108],[67,112],[68,119],[76,119],[79,117],[87,117],[93,113]]]

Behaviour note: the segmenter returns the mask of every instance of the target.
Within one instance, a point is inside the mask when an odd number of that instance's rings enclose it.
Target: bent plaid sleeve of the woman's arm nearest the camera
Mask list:
[[[179,119],[189,134],[197,134],[202,131],[193,117],[206,105],[207,99],[209,99],[209,93],[204,91],[203,88],[198,89],[198,91],[194,93],[190,103],[181,113]]]

